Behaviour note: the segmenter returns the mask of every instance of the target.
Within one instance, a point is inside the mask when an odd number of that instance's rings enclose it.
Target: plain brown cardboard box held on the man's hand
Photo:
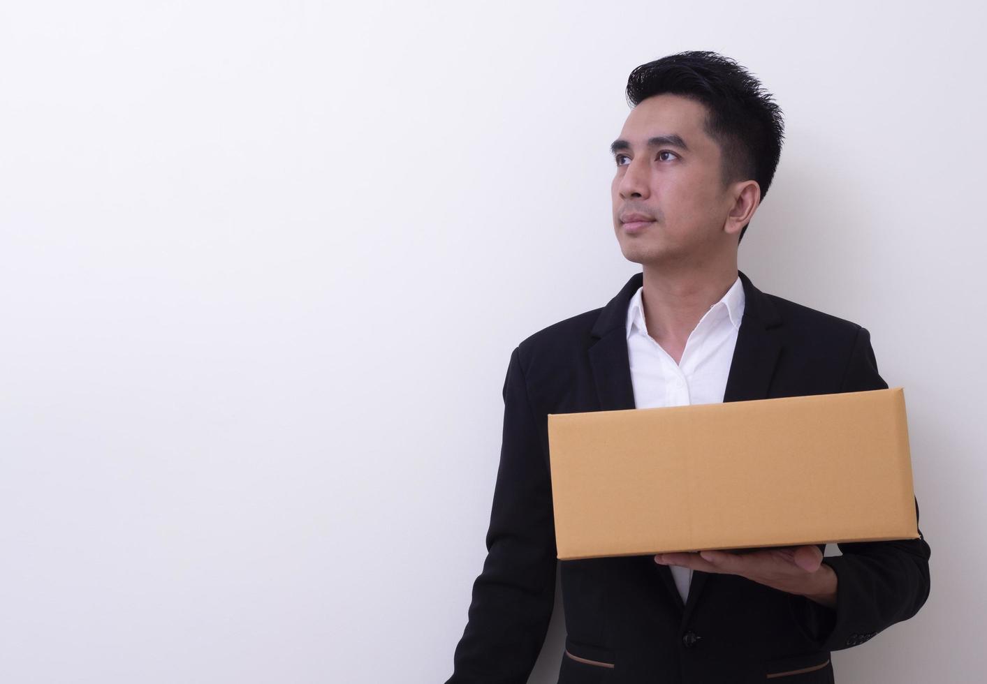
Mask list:
[[[915,539],[902,387],[549,414],[561,560]]]

